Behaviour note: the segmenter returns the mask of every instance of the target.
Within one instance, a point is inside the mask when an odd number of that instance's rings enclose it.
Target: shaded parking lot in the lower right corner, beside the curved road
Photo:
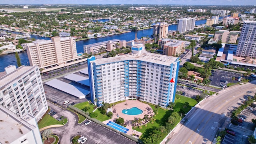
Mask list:
[[[248,96],[245,96],[245,98]],[[240,99],[238,101],[238,105],[242,104],[245,99]],[[252,107],[250,107],[252,108]],[[254,124],[252,123],[252,119],[256,118],[256,109],[252,108],[252,110],[244,109],[240,115],[246,116],[242,123],[239,125],[230,124],[228,125],[228,129],[235,132],[235,136],[227,134],[223,141],[223,144],[249,144],[248,137],[253,134]]]

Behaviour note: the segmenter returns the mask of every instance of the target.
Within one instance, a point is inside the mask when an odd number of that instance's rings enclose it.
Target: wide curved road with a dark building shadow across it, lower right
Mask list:
[[[216,132],[224,127],[228,115],[239,106],[240,98],[244,98],[246,91],[256,92],[255,84],[256,81],[252,81],[226,88],[202,101],[170,134],[168,144],[211,144]]]

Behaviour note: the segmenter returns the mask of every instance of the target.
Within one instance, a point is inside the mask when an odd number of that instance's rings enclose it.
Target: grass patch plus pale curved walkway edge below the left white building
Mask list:
[[[44,114],[41,120],[38,122],[38,128],[40,131],[46,129],[46,128],[51,128],[51,127],[60,127],[64,126],[68,122],[67,118],[64,118],[61,121],[56,120],[49,114]]]

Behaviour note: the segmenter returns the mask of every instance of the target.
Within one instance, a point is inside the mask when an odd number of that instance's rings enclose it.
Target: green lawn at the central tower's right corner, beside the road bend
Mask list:
[[[187,108],[183,108],[185,102],[189,103],[189,106],[187,106]],[[186,96],[180,96],[179,99],[175,100],[175,103],[176,105],[173,107],[173,109],[180,108],[185,113],[191,110],[191,106],[195,106],[197,104],[196,100],[194,100],[193,98],[188,98]]]

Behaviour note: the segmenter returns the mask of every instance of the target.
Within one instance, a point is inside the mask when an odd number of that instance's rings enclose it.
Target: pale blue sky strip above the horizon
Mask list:
[[[0,4],[188,4],[256,5],[256,0],[0,0]]]

